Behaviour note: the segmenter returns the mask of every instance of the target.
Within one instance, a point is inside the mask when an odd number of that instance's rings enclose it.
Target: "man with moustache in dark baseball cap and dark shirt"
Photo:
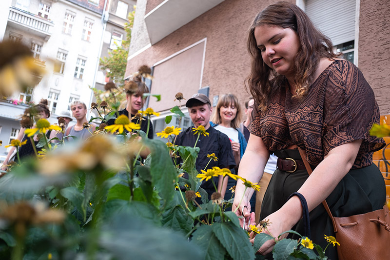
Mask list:
[[[200,135],[199,140],[196,142],[196,147],[199,147],[199,154],[195,162],[196,170],[201,173],[201,170],[212,169],[214,166],[219,168],[233,168],[235,166],[235,161],[228,136],[210,125],[210,116],[213,112],[210,99],[204,94],[196,93],[191,99],[187,100],[186,107],[188,107],[188,113],[190,114],[194,126],[190,126],[185,131],[181,132],[177,136],[175,144],[194,147],[197,135],[194,135],[192,129],[202,125],[209,135]],[[207,157],[207,155],[212,153],[218,158],[217,161],[210,161],[210,158]],[[206,165],[207,168],[205,169]],[[187,174],[185,174],[184,177],[188,179]],[[217,185],[218,192],[221,193],[223,198],[226,192],[227,178],[225,178],[223,183],[222,176],[213,178],[215,185]],[[200,187],[206,190],[210,200],[211,194],[215,192],[213,182],[211,180],[203,181]]]

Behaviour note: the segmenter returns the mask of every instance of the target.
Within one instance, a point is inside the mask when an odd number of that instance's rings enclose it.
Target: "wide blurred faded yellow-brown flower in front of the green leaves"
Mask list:
[[[128,146],[124,147],[106,135],[94,135],[84,140],[80,147],[66,146],[60,151],[47,154],[39,162],[39,170],[43,175],[92,170],[97,166],[120,170],[125,166],[127,155],[134,155],[138,148],[137,145]]]

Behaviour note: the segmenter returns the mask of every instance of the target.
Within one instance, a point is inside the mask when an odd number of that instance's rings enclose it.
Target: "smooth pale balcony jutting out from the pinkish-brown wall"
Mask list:
[[[145,15],[150,42],[159,40],[173,33],[181,26],[209,11],[224,0],[164,0],[154,1],[157,6]],[[158,4],[158,2],[161,2]]]

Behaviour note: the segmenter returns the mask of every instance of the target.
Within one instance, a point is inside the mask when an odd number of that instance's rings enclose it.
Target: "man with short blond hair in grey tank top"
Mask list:
[[[65,136],[74,136],[78,139],[84,140],[92,136],[93,131],[95,130],[95,124],[88,123],[87,120],[87,106],[84,102],[80,100],[75,100],[70,104],[70,109],[72,111],[73,117],[76,118],[77,122],[75,125],[68,127],[65,132]],[[71,137],[68,137],[68,140]]]

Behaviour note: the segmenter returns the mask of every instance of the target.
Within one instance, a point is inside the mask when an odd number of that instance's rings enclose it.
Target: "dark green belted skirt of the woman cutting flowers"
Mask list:
[[[301,159],[298,150],[276,151],[275,155],[280,158]],[[264,195],[260,220],[280,209],[308,177],[306,170],[287,173],[276,169]],[[382,173],[375,164],[350,170],[326,201],[334,217],[348,217],[381,209],[386,202]],[[331,219],[322,203],[310,212],[310,224],[312,234],[310,239],[324,249],[327,245],[324,235],[334,236],[334,232]],[[303,235],[303,221],[300,220],[292,229]],[[299,238],[296,235],[289,237]],[[337,260],[337,248],[329,246],[325,255],[330,260]]]

